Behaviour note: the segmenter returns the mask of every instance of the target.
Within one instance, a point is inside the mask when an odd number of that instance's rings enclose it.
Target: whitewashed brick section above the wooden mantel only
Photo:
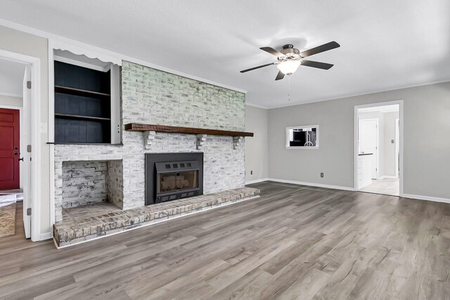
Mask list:
[[[243,131],[245,94],[122,63],[123,122]]]

